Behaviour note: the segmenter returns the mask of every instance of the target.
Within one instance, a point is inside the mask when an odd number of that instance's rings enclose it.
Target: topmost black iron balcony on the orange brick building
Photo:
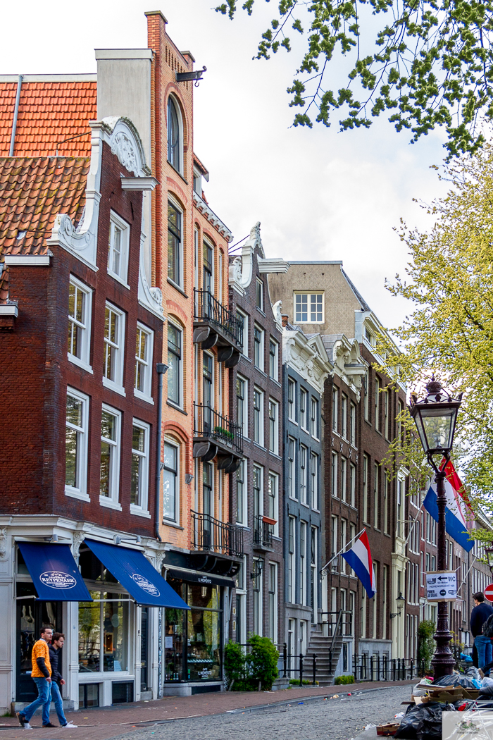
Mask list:
[[[243,347],[243,322],[222,306],[209,290],[194,288],[194,343],[217,347],[217,360],[232,368]]]

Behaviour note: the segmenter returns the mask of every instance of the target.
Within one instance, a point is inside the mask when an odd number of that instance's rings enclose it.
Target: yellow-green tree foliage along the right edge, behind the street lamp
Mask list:
[[[493,146],[446,166],[440,177],[449,181],[448,194],[422,206],[433,228],[421,233],[401,223],[409,280],[397,275],[387,287],[415,309],[395,331],[404,354],[379,338],[381,370],[417,386],[433,371],[448,391],[463,391],[461,468],[473,501],[493,511]]]

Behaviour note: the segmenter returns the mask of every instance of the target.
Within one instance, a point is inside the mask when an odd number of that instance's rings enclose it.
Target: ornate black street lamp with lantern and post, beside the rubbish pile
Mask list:
[[[462,394],[458,399],[453,399],[443,388],[435,377],[426,385],[426,398],[419,400],[414,395],[411,397],[409,408],[412,418],[418,427],[418,434],[423,445],[429,464],[435,471],[435,483],[437,484],[438,505],[438,528],[437,528],[437,560],[438,571],[446,570],[446,539],[445,539],[445,465],[439,470],[433,455],[445,457],[446,462],[450,460],[450,451],[454,442],[455,422],[462,400]],[[449,631],[449,610],[447,603],[438,602],[437,631],[434,639],[437,643],[435,655],[432,659],[432,667],[435,678],[450,676],[454,667],[454,658],[449,649],[452,635]]]

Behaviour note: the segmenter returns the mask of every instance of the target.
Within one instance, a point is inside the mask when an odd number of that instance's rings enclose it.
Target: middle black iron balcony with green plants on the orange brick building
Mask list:
[[[217,468],[234,473],[243,454],[243,433],[238,424],[210,406],[194,403],[194,457],[209,462],[217,457]]]

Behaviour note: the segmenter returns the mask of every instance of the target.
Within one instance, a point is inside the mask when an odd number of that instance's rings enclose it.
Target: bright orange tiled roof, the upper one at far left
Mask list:
[[[16,92],[17,81],[0,81],[0,156],[4,157],[10,150]],[[87,124],[96,118],[96,81],[23,81],[14,156],[89,155]]]

